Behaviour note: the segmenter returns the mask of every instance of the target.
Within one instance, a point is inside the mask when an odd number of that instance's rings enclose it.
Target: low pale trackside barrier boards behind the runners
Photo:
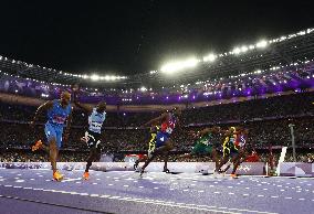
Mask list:
[[[143,163],[140,163],[142,165]],[[57,168],[62,170],[84,170],[85,162],[59,162]],[[96,171],[133,171],[133,162],[96,162],[91,170]],[[0,162],[0,168],[6,169],[51,169],[49,162]],[[164,169],[163,162],[151,162],[146,170],[148,172],[160,172]],[[168,169],[171,172],[185,173],[212,173],[213,162],[168,162]],[[231,173],[232,167],[227,171]],[[237,170],[237,174],[264,175],[264,162],[243,162]]]

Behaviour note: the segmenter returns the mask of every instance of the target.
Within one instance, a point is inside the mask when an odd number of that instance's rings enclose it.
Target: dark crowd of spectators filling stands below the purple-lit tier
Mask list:
[[[184,109],[181,119],[184,132],[175,131],[174,133],[175,151],[188,152],[193,145],[189,136],[190,130],[199,130],[208,126],[220,126],[227,129],[230,126],[240,125],[248,128],[250,130],[248,143],[254,149],[264,149],[270,145],[291,147],[289,127],[291,124],[294,125],[296,147],[310,149],[314,142],[314,105],[312,103],[313,93],[300,93]],[[44,116],[35,129],[29,126],[35,109],[30,106],[0,104],[0,148],[30,149],[35,140],[45,140]],[[158,115],[159,113],[108,113],[102,139],[104,151],[112,153],[146,151],[149,132],[148,129],[139,127]],[[86,114],[75,110],[72,125],[70,139],[64,143],[64,149],[84,153],[87,148],[80,139],[87,127]],[[221,136],[219,140],[222,141],[223,137]],[[43,160],[42,157],[36,156],[34,159]]]

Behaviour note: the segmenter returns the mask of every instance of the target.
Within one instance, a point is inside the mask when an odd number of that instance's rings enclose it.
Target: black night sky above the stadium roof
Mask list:
[[[303,0],[10,0],[1,2],[0,54],[73,73],[143,73],[169,60],[313,28],[313,6]]]

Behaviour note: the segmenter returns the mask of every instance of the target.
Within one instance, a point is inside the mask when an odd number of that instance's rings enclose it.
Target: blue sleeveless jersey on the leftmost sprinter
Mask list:
[[[53,100],[53,107],[48,110],[48,122],[55,127],[63,128],[67,116],[71,114],[72,106],[69,104],[63,108],[59,99]]]

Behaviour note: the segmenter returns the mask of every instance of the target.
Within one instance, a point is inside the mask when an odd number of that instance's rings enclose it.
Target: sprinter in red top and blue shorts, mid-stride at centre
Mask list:
[[[165,156],[164,172],[169,172],[167,168],[167,162],[169,158],[169,151],[174,149],[174,143],[171,140],[171,133],[176,127],[179,127],[179,116],[181,110],[179,108],[174,108],[171,113],[164,113],[161,116],[145,124],[145,127],[160,125],[160,129],[156,136],[156,149],[151,152],[151,157],[145,161],[140,170],[140,175],[144,173],[145,168],[154,160],[156,156]]]

